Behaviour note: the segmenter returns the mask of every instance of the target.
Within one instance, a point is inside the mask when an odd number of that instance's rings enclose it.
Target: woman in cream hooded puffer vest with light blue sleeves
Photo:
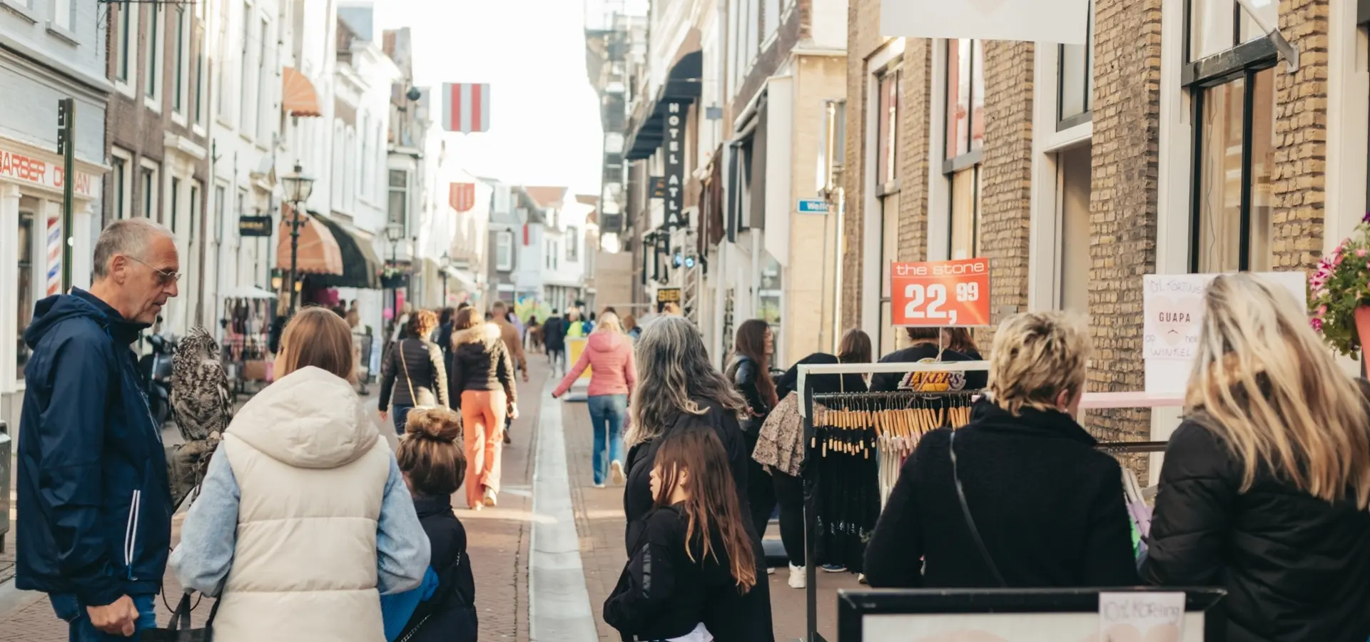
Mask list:
[[[281,376],[225,431],[171,567],[218,595],[216,642],[379,639],[379,595],[419,586],[429,541],[351,385],[347,323],[304,308],[281,341]]]

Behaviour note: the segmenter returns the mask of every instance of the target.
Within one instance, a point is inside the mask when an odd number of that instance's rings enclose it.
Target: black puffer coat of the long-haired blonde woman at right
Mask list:
[[[1241,493],[1226,442],[1186,420],[1170,437],[1143,576],[1228,590],[1228,642],[1370,638],[1370,512],[1260,471]]]

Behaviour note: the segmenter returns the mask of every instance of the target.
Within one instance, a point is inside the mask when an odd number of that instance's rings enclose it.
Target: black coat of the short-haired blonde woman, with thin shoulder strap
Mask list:
[[[948,452],[951,430],[923,435],[866,548],[873,587],[997,587],[966,524]],[[1122,468],[1063,412],[1012,416],[981,400],[956,431],[956,461],[975,527],[1010,587],[1138,583]]]

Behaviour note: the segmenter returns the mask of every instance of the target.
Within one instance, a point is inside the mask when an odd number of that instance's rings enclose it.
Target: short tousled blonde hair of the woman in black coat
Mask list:
[[[1074,315],[1023,312],[995,331],[989,356],[989,397],[1014,416],[1023,408],[1058,409],[1062,393],[1085,389],[1089,335]]]

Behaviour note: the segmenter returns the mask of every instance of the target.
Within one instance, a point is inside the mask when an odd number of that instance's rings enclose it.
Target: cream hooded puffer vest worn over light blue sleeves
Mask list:
[[[233,418],[241,490],[215,642],[385,639],[375,532],[389,446],[347,381],[301,368]]]

